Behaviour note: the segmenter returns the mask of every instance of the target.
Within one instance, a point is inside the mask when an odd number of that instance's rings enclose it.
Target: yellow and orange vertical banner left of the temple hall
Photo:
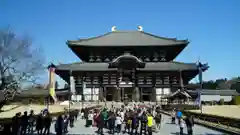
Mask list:
[[[55,93],[55,68],[49,68],[49,95],[53,98],[54,102],[57,101],[57,96]]]

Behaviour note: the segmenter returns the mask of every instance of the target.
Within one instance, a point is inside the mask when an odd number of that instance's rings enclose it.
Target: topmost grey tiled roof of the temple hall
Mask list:
[[[97,37],[67,41],[69,46],[173,46],[188,43],[188,40],[160,37],[143,31],[114,31]]]

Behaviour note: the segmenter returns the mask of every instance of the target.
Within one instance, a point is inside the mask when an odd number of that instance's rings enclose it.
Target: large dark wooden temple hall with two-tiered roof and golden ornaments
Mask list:
[[[198,75],[196,62],[174,61],[188,44],[188,40],[147,33],[142,26],[135,31],[120,31],[114,26],[100,36],[67,41],[81,62],[52,67],[67,83],[72,76],[76,90],[73,94],[85,100],[123,101],[127,97],[157,101],[184,90]]]

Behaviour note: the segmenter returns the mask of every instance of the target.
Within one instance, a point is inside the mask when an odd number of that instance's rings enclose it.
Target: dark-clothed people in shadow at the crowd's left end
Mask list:
[[[65,114],[60,114],[56,119],[50,116],[47,109],[41,111],[38,115],[31,110],[28,114],[25,111],[16,113],[11,122],[4,124],[1,134],[3,135],[31,135],[36,132],[38,135],[49,135],[50,127],[55,122],[55,132],[57,135],[63,135],[68,132],[68,127],[74,126],[74,121],[79,114],[78,110],[73,110],[70,113],[66,111]]]

